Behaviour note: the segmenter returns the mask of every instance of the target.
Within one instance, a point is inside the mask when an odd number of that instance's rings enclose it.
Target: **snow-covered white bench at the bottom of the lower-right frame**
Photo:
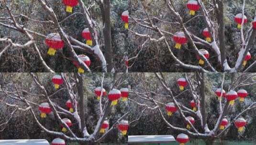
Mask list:
[[[128,144],[176,142],[172,135],[129,135]]]

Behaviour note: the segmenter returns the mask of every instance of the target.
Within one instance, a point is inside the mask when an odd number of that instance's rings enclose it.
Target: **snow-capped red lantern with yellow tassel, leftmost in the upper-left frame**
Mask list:
[[[48,55],[54,56],[56,51],[64,47],[64,41],[58,33],[50,33],[46,36],[45,44],[49,47]]]

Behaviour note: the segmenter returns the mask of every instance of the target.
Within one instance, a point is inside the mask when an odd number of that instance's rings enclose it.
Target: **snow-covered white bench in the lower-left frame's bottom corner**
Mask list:
[[[45,139],[0,140],[0,145],[50,145]]]

